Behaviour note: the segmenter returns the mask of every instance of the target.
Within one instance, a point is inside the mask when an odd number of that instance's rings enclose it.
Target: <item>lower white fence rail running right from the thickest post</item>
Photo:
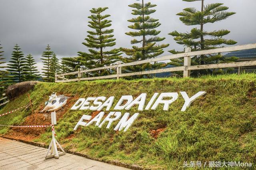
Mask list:
[[[241,61],[232,63],[206,64],[206,65],[192,65],[187,66],[186,70],[200,70],[200,69],[214,69],[214,68],[228,68],[256,65],[256,61]]]

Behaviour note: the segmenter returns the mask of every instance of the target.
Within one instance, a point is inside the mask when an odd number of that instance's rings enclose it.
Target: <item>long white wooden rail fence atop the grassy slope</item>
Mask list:
[[[112,79],[112,78],[119,79],[119,77],[154,74],[154,73],[165,73],[165,72],[171,72],[171,71],[183,71],[183,77],[189,77],[190,70],[228,68],[228,67],[245,67],[245,66],[256,65],[256,61],[254,60],[254,61],[241,61],[241,62],[229,62],[229,63],[192,65],[191,66],[191,57],[193,57],[193,56],[239,51],[239,50],[243,50],[243,49],[253,49],[253,48],[256,48],[256,43],[246,44],[246,45],[236,45],[236,46],[230,46],[230,47],[222,47],[222,48],[216,48],[216,49],[208,49],[208,50],[202,50],[202,51],[193,51],[193,52],[191,52],[190,48],[186,48],[185,53],[166,55],[163,57],[140,60],[140,61],[135,61],[135,62],[131,62],[131,63],[123,63],[123,64],[119,63],[117,65],[98,67],[98,68],[94,68],[94,69],[86,69],[86,70],[78,69],[78,71],[64,73],[64,74],[55,74],[55,82],[57,83],[57,82],[71,82],[71,81],[81,81],[81,80]],[[180,58],[180,57],[184,57],[184,66],[122,74],[122,67],[139,65],[139,64],[144,64],[144,63],[151,63],[151,62],[155,62],[155,61],[164,61],[164,60],[175,59],[175,58]],[[97,71],[97,70],[102,70],[102,69],[114,69],[114,68],[117,70],[116,71],[117,74],[114,74],[114,75],[106,75],[106,76],[99,76],[99,77],[83,77],[83,73],[88,73],[91,71]],[[65,78],[66,75],[76,75],[76,74],[77,74],[77,78],[75,78],[75,79],[66,79]],[[59,80],[59,79],[62,79],[62,80]]]

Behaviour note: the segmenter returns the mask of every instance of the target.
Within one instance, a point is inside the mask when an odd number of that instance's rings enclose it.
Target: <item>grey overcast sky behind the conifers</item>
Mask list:
[[[75,57],[78,51],[87,51],[82,45],[88,28],[87,18],[91,8],[109,7],[104,14],[110,14],[112,28],[116,38],[116,47],[130,47],[130,36],[124,34],[131,31],[127,20],[134,17],[129,4],[136,0],[0,0],[0,43],[4,49],[4,57],[10,59],[13,46],[18,43],[25,55],[34,55],[39,68],[40,56],[47,44],[50,44],[58,58]],[[197,7],[200,2],[184,2],[182,0],[145,0],[157,4],[157,10],[152,14],[162,24],[161,37],[166,37],[162,43],[169,43],[163,55],[168,50],[182,50],[182,45],[175,43],[168,33],[190,31],[192,27],[185,26],[176,16],[186,7]],[[256,42],[256,0],[205,0],[205,3],[224,3],[230,12],[236,12],[227,20],[207,24],[206,30],[227,29],[230,38],[238,44]]]

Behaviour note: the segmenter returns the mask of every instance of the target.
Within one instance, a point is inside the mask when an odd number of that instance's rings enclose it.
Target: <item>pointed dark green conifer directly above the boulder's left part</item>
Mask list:
[[[22,53],[21,48],[16,44],[14,46],[14,51],[12,51],[12,57],[11,60],[9,61],[10,64],[7,64],[6,71],[10,72],[10,80],[14,82],[22,82],[26,81],[25,79],[25,71],[24,71],[24,66],[26,65],[26,61],[24,58],[24,54]]]

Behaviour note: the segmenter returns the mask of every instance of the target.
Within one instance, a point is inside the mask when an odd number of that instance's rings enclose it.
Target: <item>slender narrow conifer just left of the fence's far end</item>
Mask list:
[[[50,48],[50,45],[48,44],[47,47],[46,47],[46,51],[43,52],[42,54],[42,63],[44,63],[44,66],[43,66],[43,80],[46,81],[46,82],[50,82],[52,81],[52,79],[50,78],[50,62],[51,62],[51,58],[52,58],[52,54],[53,52],[50,51],[51,48]]]

